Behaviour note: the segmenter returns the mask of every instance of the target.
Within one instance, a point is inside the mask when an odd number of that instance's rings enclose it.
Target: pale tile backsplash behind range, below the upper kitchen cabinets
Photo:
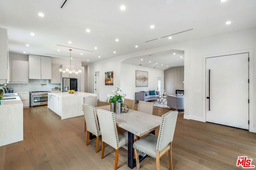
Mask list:
[[[46,85],[41,85],[46,84]],[[30,92],[30,91],[52,91],[52,88],[60,87],[60,84],[50,84],[50,80],[32,80],[28,84],[7,84],[8,88],[13,88],[13,92]]]

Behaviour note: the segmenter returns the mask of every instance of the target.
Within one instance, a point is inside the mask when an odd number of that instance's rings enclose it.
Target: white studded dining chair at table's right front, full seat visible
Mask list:
[[[176,126],[178,111],[169,111],[162,115],[162,123],[158,137],[149,134],[146,137],[134,142],[133,148],[136,158],[137,169],[140,169],[138,151],[156,159],[156,169],[160,170],[160,157],[169,151],[169,166],[172,170],[172,139]]]

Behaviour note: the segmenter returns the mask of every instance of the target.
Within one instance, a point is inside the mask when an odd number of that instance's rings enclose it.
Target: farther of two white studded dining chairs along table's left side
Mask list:
[[[89,145],[89,137],[90,133],[96,136],[96,153],[99,150],[99,139],[100,139],[100,126],[98,123],[98,118],[95,113],[95,107],[90,106],[87,104],[83,104],[83,111],[84,111],[84,119],[86,121],[87,127],[87,138],[86,138],[86,145]]]

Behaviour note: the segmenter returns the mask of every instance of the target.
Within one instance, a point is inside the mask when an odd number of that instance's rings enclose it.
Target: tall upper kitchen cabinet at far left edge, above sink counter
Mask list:
[[[9,82],[9,51],[7,29],[0,28],[0,83]]]

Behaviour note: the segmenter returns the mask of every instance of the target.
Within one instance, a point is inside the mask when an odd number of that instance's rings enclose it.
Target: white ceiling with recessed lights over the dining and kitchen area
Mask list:
[[[8,29],[9,51],[68,59],[69,47],[58,45],[70,46],[78,48],[72,49],[74,60],[87,65],[127,53],[256,27],[256,0],[223,3],[219,0],[67,0],[60,8],[61,2],[1,0],[0,27]],[[120,10],[122,4],[126,6],[125,11]],[[44,13],[44,18],[38,16],[39,12]],[[225,24],[228,20],[232,21],[230,25]],[[150,29],[152,24],[154,29]],[[86,28],[91,32],[87,33]],[[188,29],[192,30],[172,35]],[[166,35],[172,35],[172,39],[160,38]],[[115,41],[117,38],[119,42]],[[156,40],[145,43],[152,39]]]

